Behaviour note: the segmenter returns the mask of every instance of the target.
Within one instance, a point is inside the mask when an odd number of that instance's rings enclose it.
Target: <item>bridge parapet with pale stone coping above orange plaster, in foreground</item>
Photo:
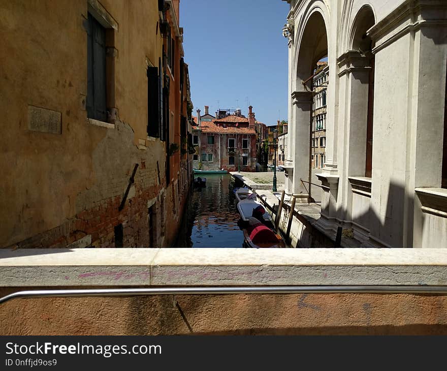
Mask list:
[[[20,290],[364,285],[397,293],[12,299],[3,335],[447,334],[444,249],[74,249],[0,252],[0,296]],[[444,292],[447,292],[444,290]]]

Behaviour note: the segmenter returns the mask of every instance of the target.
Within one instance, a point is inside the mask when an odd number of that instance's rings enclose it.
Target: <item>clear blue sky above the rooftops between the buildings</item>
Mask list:
[[[287,119],[288,12],[281,0],[180,1],[193,115],[251,105],[266,125]]]

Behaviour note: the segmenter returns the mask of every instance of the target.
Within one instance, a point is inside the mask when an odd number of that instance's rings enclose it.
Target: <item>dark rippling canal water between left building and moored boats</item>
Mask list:
[[[197,177],[197,175],[196,175]],[[205,188],[195,188],[183,217],[175,247],[241,248],[240,218],[230,174],[206,174]]]

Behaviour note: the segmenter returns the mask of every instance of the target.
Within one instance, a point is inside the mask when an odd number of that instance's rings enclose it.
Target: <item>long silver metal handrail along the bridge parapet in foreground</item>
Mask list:
[[[134,289],[67,289],[17,291],[0,298],[0,304],[18,298],[38,297],[91,297],[132,295],[200,295],[200,294],[319,294],[319,293],[418,293],[447,294],[447,286],[410,285],[346,285],[346,286],[215,286],[215,287],[165,287]]]

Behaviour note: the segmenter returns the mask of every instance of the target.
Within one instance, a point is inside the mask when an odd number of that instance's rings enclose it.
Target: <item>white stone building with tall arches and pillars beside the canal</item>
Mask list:
[[[308,202],[312,92],[329,64],[321,218],[358,246],[447,247],[447,1],[287,0],[286,192]]]

